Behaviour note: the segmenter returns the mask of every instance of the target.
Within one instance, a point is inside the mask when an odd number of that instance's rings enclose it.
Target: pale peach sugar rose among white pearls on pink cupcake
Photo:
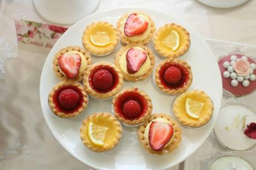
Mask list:
[[[250,62],[245,61],[243,59],[238,59],[234,64],[233,67],[235,72],[237,72],[238,76],[247,76],[250,74]]]

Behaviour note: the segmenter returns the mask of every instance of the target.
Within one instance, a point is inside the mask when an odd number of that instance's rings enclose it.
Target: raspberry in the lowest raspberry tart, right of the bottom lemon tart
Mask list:
[[[134,117],[140,114],[140,104],[136,101],[130,100],[124,104],[123,112],[128,117]]]

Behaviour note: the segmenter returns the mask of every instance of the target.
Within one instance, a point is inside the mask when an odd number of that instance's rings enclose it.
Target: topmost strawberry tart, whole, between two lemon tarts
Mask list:
[[[122,16],[117,22],[121,41],[125,44],[137,42],[148,43],[156,31],[155,23],[144,12],[131,12]]]

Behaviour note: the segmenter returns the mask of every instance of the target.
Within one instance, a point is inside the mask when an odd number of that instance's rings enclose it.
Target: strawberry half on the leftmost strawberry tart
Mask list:
[[[58,66],[68,78],[74,78],[78,75],[81,64],[79,54],[63,54],[58,58]]]

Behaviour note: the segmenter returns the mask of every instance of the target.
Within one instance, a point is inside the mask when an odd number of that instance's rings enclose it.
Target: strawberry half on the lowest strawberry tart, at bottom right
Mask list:
[[[173,137],[174,129],[166,122],[152,122],[149,128],[149,145],[155,151],[160,151]]]

